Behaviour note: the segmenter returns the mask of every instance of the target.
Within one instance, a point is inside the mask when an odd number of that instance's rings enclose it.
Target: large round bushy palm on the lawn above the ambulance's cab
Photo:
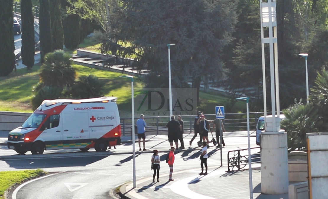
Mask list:
[[[56,50],[45,55],[45,62],[40,69],[40,82],[43,86],[63,89],[71,87],[76,77],[76,69],[72,67],[71,55],[63,50]]]

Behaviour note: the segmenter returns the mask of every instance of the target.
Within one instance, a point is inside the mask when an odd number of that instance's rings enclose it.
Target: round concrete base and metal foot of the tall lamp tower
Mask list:
[[[280,130],[277,119],[275,132],[261,133],[261,192],[264,194],[288,193],[287,133]],[[267,130],[272,128],[272,118],[267,118]]]

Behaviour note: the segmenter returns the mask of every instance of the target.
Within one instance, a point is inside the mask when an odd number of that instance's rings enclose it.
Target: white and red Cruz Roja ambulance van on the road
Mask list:
[[[44,100],[24,124],[9,133],[8,148],[19,154],[73,149],[106,151],[120,144],[115,97]]]

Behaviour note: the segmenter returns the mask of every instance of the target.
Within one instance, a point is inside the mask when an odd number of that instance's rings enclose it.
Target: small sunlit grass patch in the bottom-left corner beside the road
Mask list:
[[[21,184],[27,179],[36,178],[44,174],[45,172],[41,169],[23,171],[0,171],[0,197],[3,197],[4,192],[15,184]]]

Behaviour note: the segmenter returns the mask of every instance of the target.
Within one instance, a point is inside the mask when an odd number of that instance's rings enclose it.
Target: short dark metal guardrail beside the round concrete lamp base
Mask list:
[[[260,149],[260,147],[254,147],[252,149]],[[244,151],[247,151],[247,153]],[[233,155],[232,155],[233,153]],[[245,155],[246,154],[246,155]],[[252,163],[260,163],[260,152],[251,154]],[[228,151],[228,171],[232,171],[235,167],[237,170],[244,168],[248,164],[248,148],[238,149],[234,151]]]

